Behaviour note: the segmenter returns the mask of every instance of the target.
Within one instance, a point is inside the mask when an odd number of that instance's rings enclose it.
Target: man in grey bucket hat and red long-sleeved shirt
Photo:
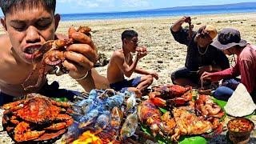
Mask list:
[[[241,75],[240,82],[246,86],[251,95],[256,95],[256,46],[252,46],[246,40],[241,39],[240,32],[232,28],[223,29],[211,45],[227,55],[237,55],[236,63],[234,67],[226,70],[214,73],[205,72],[201,78],[214,82],[223,78],[236,78]],[[216,98],[222,100],[230,98],[239,82],[234,80],[229,82],[226,86],[218,87],[214,92]],[[254,99],[254,97],[252,98]]]

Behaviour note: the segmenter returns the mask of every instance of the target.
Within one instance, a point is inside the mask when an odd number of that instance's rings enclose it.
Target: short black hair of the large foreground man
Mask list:
[[[47,11],[55,13],[56,0],[0,0],[2,13],[12,12],[12,10],[24,10],[27,6],[32,8],[36,6],[43,6]]]

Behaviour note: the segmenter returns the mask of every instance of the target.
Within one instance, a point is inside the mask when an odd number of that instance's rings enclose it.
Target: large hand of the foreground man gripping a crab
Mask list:
[[[67,51],[64,53],[66,60],[63,62],[63,66],[70,70],[71,78],[82,78],[97,62],[97,48],[86,34],[74,32],[70,35],[70,38],[74,38],[78,43],[66,48]]]

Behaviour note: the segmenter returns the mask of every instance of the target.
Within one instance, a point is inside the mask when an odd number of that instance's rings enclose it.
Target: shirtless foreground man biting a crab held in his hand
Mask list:
[[[54,89],[47,85],[46,78],[42,79],[38,88],[25,91],[22,87],[22,82],[33,70],[34,61],[37,69],[26,85],[34,86],[38,82],[42,55],[34,58],[34,51],[48,40],[67,38],[55,34],[60,20],[59,14],[54,15],[56,0],[1,0],[0,5],[5,16],[1,22],[6,31],[6,34],[0,36],[0,106],[31,92],[46,96],[57,96],[55,94],[60,92],[65,97],[69,91],[58,91],[56,82],[53,87],[57,89]],[[64,54],[66,60],[62,65],[69,70],[70,77],[76,79],[86,91],[107,86],[106,78],[104,80],[95,70],[91,70],[97,60],[94,43],[85,34],[82,38],[76,38],[76,35],[78,33],[73,34],[72,38],[81,43],[68,46]]]

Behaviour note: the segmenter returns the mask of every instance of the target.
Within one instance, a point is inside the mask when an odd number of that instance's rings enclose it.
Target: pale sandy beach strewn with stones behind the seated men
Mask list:
[[[170,34],[170,26],[182,16],[162,18],[134,18],[60,22],[58,33],[67,34],[70,26],[90,26],[92,38],[98,47],[98,52],[106,54],[110,58],[114,50],[122,47],[121,34],[123,30],[136,30],[138,32],[139,46],[146,46],[149,54],[138,62],[138,66],[145,70],[156,71],[158,80],[154,80],[152,86],[171,83],[170,74],[174,70],[184,66],[186,58],[186,46],[174,40]],[[217,30],[225,27],[233,27],[240,30],[242,38],[247,42],[256,44],[256,13],[250,14],[209,14],[191,16],[194,30],[200,26],[210,24]],[[184,24],[183,26],[187,26]],[[4,34],[1,29],[0,34]],[[99,74],[106,76],[107,66],[97,67]],[[138,76],[133,74],[131,78]],[[61,88],[83,91],[68,74],[62,76],[48,75],[50,82],[58,81]],[[2,116],[0,115],[0,118]],[[2,123],[2,119],[0,119]],[[2,127],[0,126],[0,130]],[[10,143],[5,133],[0,133],[0,143]]]

